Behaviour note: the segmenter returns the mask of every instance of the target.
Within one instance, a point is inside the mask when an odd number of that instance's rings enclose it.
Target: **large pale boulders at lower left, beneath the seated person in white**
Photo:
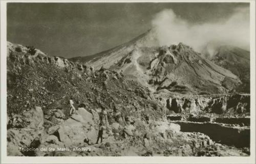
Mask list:
[[[11,120],[15,120],[15,118],[11,118]],[[40,151],[43,148],[49,151],[49,148],[57,150],[61,147],[75,147],[82,145],[85,140],[88,144],[92,144],[97,139],[95,129],[97,126],[93,115],[84,108],[78,108],[76,114],[71,118],[48,129],[43,126],[44,114],[38,106],[24,113],[20,118],[27,120],[29,124],[26,127],[8,129],[7,152],[10,156],[42,156],[47,152],[46,150]]]

